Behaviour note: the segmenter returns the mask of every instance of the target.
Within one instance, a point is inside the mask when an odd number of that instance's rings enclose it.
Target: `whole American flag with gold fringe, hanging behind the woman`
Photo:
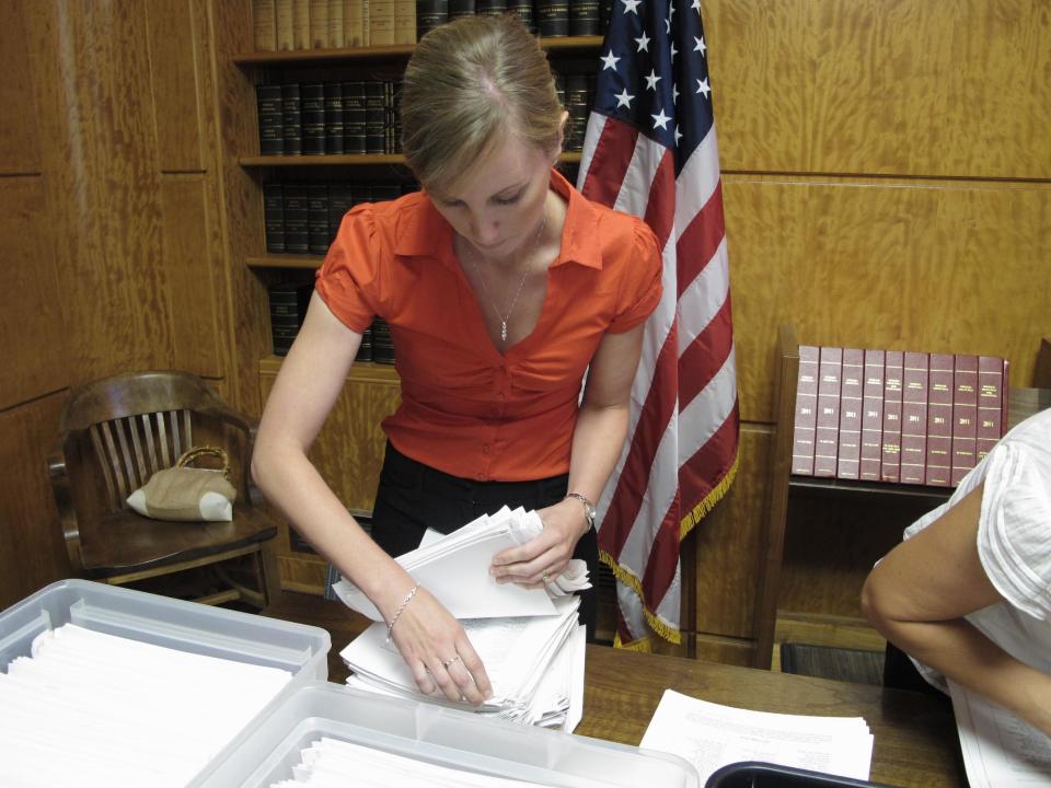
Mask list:
[[[642,217],[663,259],[628,440],[598,507],[602,560],[617,578],[617,640],[646,648],[649,629],[680,641],[679,545],[737,471],[729,266],[701,0],[614,0],[598,69],[578,186]]]

